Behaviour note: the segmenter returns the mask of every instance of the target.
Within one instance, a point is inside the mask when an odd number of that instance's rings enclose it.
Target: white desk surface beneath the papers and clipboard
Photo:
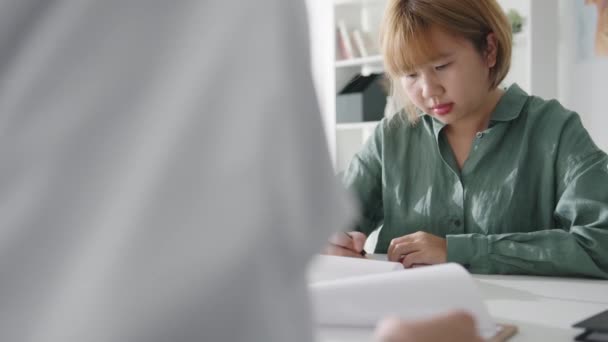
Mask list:
[[[473,275],[490,314],[517,325],[510,341],[572,341],[572,324],[608,309],[608,281],[529,276]],[[446,288],[446,291],[449,289]],[[367,329],[321,329],[321,342],[371,341]]]

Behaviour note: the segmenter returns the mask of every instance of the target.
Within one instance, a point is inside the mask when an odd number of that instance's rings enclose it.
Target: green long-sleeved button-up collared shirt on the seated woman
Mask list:
[[[608,278],[608,156],[576,113],[513,85],[462,170],[443,128],[385,119],[345,171],[377,253],[425,231],[475,273]]]

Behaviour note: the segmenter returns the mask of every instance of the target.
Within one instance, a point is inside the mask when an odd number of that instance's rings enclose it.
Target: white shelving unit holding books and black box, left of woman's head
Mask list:
[[[352,156],[372,134],[377,122],[336,124],[336,94],[356,74],[383,71],[377,49],[378,28],[386,0],[308,0],[311,14],[313,73],[329,150],[336,171],[346,168]],[[336,53],[336,29],[343,21],[349,30],[364,32],[376,45],[370,56],[340,59]]]

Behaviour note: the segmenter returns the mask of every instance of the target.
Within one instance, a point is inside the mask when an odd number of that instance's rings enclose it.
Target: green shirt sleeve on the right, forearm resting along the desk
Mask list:
[[[608,278],[608,156],[576,115],[564,125],[555,168],[555,227],[448,235],[448,261],[477,273]]]

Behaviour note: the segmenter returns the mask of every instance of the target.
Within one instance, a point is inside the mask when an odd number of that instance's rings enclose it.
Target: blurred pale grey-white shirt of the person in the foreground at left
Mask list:
[[[352,213],[300,1],[0,4],[0,340],[311,341]]]

